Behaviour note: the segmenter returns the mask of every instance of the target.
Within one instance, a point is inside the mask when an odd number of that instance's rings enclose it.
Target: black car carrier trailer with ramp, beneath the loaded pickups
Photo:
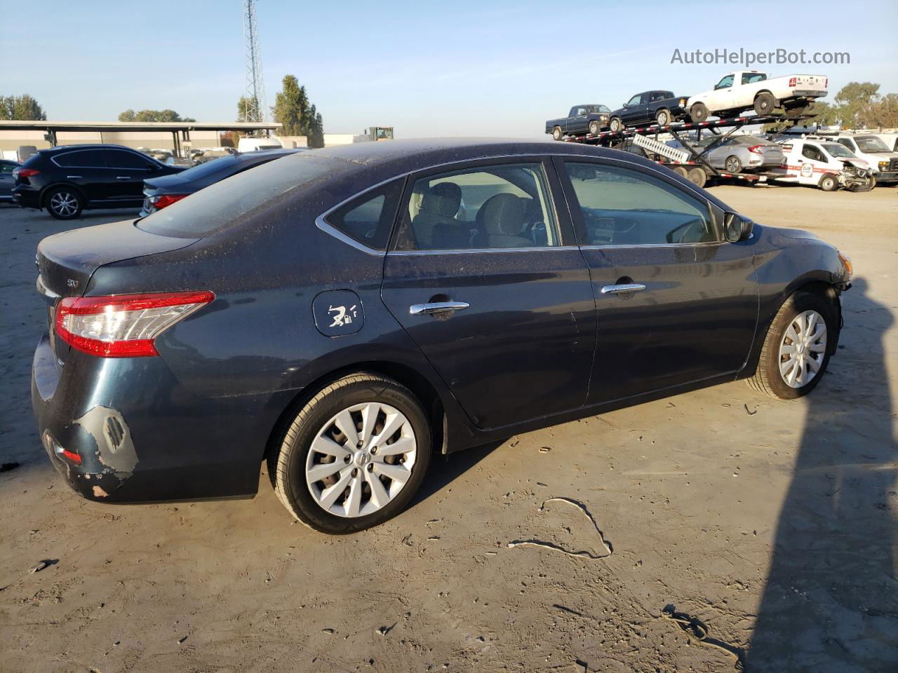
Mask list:
[[[735,117],[727,119],[714,119],[712,121],[681,122],[658,126],[653,124],[648,127],[625,128],[621,131],[603,131],[598,134],[574,135],[564,138],[566,143],[597,144],[603,147],[624,149],[636,145],[649,159],[667,166],[683,178],[691,180],[699,187],[704,187],[709,181],[718,179],[741,179],[747,182],[765,182],[768,179],[782,178],[782,173],[774,171],[739,172],[730,173],[711,166],[706,158],[710,150],[723,143],[731,135],[742,127],[759,126],[788,122],[797,124],[802,119],[812,118],[814,115],[801,115],[797,117],[784,117],[782,115],[769,115],[765,117]],[[724,131],[726,130],[726,132]],[[717,136],[716,139],[705,147],[696,149],[692,143],[701,140],[701,134],[707,131]],[[681,134],[695,132],[694,140]],[[671,147],[658,139],[659,135],[672,135],[682,147]]]

